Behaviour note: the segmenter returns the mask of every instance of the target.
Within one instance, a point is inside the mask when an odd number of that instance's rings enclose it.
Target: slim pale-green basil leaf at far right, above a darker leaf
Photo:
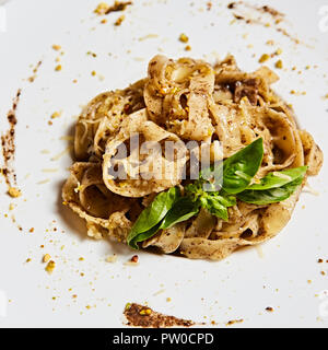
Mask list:
[[[298,177],[304,177],[307,171],[307,166],[300,166],[294,168],[289,168],[286,171],[269,173],[267,176],[261,178],[259,184],[254,184],[247,189],[254,190],[265,190],[270,188],[277,188],[292,183]]]

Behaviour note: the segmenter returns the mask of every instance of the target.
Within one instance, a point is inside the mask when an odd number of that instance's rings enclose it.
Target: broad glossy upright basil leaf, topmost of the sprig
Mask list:
[[[257,139],[223,162],[223,189],[236,195],[250,184],[263,158],[263,139]]]

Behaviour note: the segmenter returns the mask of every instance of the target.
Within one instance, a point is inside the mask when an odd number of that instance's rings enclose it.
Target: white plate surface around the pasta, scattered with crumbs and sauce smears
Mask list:
[[[242,69],[251,71],[259,67],[262,54],[279,47],[285,69],[277,70],[281,80],[274,89],[293,104],[301,126],[313,133],[327,154],[325,8],[319,14],[325,1],[257,2],[285,13],[280,25],[302,40],[298,45],[277,32],[277,25],[232,23],[229,1],[212,1],[212,9],[207,10],[208,1],[134,0],[117,27],[114,22],[121,13],[109,14],[108,22],[101,24],[101,18],[93,13],[98,2],[11,0],[0,8],[2,20],[7,18],[7,27],[2,27],[7,31],[0,33],[0,127],[7,130],[5,114],[21,88],[15,170],[23,191],[21,198],[11,199],[4,195],[7,187],[1,180],[0,327],[119,327],[127,302],[148,302],[156,311],[209,326],[211,320],[221,327],[243,318],[233,327],[327,327],[328,295],[324,291],[328,290],[328,275],[320,271],[327,273],[328,264],[317,262],[318,258],[328,259],[326,164],[320,175],[311,179],[319,196],[302,195],[291,222],[261,246],[262,254],[247,248],[223,261],[209,262],[140,252],[140,265],[130,267],[125,262],[134,252],[120,244],[86,238],[83,222],[61,205],[70,155],[51,161],[68,147],[60,138],[70,135],[73,116],[81,106],[102,91],[125,88],[144,77],[153,55],[187,55],[214,61],[218,54],[223,58],[232,52]],[[270,21],[266,16],[262,20]],[[190,38],[189,52],[178,40],[181,33]],[[273,46],[266,45],[270,39]],[[54,44],[62,47],[63,56],[51,48]],[[56,72],[58,56],[62,70]],[[277,59],[267,63],[274,69]],[[39,60],[42,66],[31,83],[26,80],[33,75],[31,65]],[[91,74],[93,70],[96,77]],[[72,82],[74,79],[78,83]],[[306,95],[292,95],[291,90],[306,91]],[[49,126],[51,114],[60,110],[61,117]],[[44,173],[45,168],[58,172]],[[45,179],[50,182],[38,184]],[[16,206],[12,211],[10,203]],[[28,232],[31,228],[33,233]],[[42,262],[46,253],[56,261],[51,276]],[[118,261],[106,262],[114,253]],[[27,258],[30,262],[25,262]],[[268,306],[273,312],[267,312]]]

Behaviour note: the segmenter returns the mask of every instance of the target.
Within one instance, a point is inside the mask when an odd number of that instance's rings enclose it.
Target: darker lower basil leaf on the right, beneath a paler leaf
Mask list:
[[[246,203],[266,206],[277,203],[279,201],[288,199],[295,189],[302,184],[303,176],[300,176],[292,183],[285,184],[278,188],[269,188],[265,190],[246,189],[241,194],[237,194],[237,198]]]

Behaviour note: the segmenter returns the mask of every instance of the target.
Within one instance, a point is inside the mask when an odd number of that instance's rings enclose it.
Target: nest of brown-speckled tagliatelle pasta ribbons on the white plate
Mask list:
[[[262,138],[263,158],[254,182],[303,165],[308,166],[307,175],[317,175],[323,153],[312,136],[298,129],[291,107],[271,90],[277,80],[266,67],[241,71],[232,56],[214,66],[155,56],[148,78],[96,96],[82,112],[74,137],[77,162],[62,189],[65,203],[86,221],[90,236],[126,242],[159,192],[174,186],[184,191],[189,141],[202,142],[211,150],[211,161],[216,161]],[[167,141],[176,145],[171,156],[161,152]],[[218,141],[221,153],[214,148]],[[154,143],[160,144],[159,153],[151,159],[140,153],[139,147],[149,151]],[[120,148],[126,152],[119,154]],[[124,176],[117,178],[113,172]],[[291,219],[303,185],[281,202],[259,206],[237,200],[229,208],[229,221],[201,209],[141,246],[188,258],[222,259],[238,247],[277,235]]]

